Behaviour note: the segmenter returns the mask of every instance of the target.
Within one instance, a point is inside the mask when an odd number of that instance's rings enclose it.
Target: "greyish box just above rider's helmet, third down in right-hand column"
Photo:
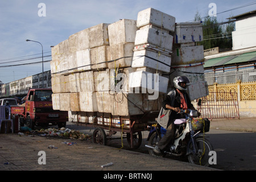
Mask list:
[[[197,63],[193,64],[191,67],[186,67],[187,65],[184,65],[184,67],[176,67],[174,69],[171,69],[171,75],[170,75],[170,84],[173,86],[172,80],[174,80],[177,76],[186,76],[191,83],[205,81],[204,77],[204,65]]]

